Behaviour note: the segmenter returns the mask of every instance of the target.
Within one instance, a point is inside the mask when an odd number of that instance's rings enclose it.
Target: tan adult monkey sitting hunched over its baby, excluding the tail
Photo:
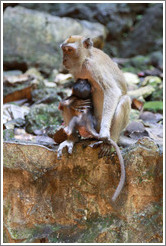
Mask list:
[[[94,48],[90,38],[70,36],[61,48],[63,65],[77,79],[88,79],[92,86],[96,130],[101,139],[118,141],[126,127],[131,101],[123,73],[103,51]]]

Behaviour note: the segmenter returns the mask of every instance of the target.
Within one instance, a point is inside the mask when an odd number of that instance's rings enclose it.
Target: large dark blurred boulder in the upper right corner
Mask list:
[[[121,56],[132,57],[157,50],[162,52],[162,33],[163,5],[156,3],[147,10],[142,20],[129,35],[128,41],[124,43],[121,50]]]

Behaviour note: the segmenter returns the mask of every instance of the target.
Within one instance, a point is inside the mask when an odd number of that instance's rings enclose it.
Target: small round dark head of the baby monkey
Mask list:
[[[91,85],[87,79],[77,79],[73,85],[72,95],[81,98],[88,99],[91,97]]]

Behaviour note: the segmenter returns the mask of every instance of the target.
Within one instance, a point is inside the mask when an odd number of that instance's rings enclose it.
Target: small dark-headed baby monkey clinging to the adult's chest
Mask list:
[[[93,116],[91,101],[91,85],[86,79],[78,79],[72,88],[72,95],[59,104],[63,112],[65,124],[64,131],[68,136],[76,136],[78,131],[81,137],[98,137],[95,130],[96,120]]]

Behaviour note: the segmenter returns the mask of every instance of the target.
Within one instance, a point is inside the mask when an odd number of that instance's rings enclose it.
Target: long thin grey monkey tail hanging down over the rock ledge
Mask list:
[[[123,189],[124,183],[125,183],[125,165],[124,165],[124,160],[123,160],[123,157],[122,157],[122,154],[120,152],[118,145],[112,139],[109,139],[109,141],[110,141],[110,144],[113,145],[113,147],[115,147],[116,153],[119,158],[120,168],[121,168],[120,181],[119,181],[118,187],[116,188],[116,191],[114,192],[112,196],[112,201],[114,202],[116,198],[119,196],[121,190]]]

